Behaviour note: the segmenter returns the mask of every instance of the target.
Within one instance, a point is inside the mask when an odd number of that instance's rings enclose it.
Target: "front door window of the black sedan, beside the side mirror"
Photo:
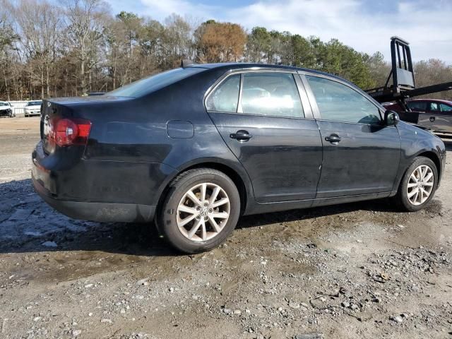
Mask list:
[[[318,76],[306,76],[321,119],[355,124],[379,124],[379,109],[356,90]]]

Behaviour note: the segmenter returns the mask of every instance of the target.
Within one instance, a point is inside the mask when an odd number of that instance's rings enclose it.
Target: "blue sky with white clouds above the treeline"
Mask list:
[[[452,64],[452,0],[107,0],[114,13],[132,11],[163,20],[172,13],[263,26],[322,40],[338,38],[359,52],[391,58],[390,37],[410,42],[412,57]]]

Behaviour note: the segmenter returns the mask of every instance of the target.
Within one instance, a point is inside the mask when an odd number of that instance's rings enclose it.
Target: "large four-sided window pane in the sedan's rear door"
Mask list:
[[[244,73],[242,112],[273,117],[303,118],[302,100],[292,73]]]

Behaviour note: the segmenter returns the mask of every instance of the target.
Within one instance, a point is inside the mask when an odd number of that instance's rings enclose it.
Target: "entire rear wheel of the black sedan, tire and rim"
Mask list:
[[[174,179],[157,223],[179,251],[209,251],[225,242],[237,225],[240,196],[234,182],[216,169],[190,169]]]

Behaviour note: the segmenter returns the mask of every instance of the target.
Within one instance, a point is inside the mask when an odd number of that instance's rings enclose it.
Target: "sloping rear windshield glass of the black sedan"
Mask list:
[[[117,90],[112,90],[107,95],[114,97],[141,97],[155,90],[160,90],[167,85],[177,83],[184,78],[188,78],[196,73],[204,71],[205,69],[199,67],[190,67],[187,69],[172,69],[163,73],[155,74],[148,78],[144,78],[129,85],[122,86]]]

